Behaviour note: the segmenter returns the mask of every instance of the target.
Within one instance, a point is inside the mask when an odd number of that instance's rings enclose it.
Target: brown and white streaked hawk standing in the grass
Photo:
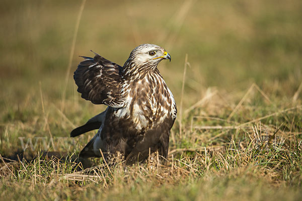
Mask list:
[[[177,109],[157,68],[163,59],[171,61],[166,50],[152,44],[139,45],[123,66],[96,53],[94,58],[83,58],[73,76],[78,92],[93,104],[108,107],[71,131],[70,136],[75,137],[98,129],[79,156],[102,157],[103,153],[108,160],[120,152],[126,164],[143,161],[149,151],[167,157]]]

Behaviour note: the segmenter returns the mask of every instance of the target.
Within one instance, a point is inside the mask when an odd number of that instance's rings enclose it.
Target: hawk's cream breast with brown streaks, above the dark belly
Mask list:
[[[126,105],[114,115],[131,121],[136,130],[152,129],[166,118],[175,119],[175,100],[161,76],[128,81],[123,92]]]

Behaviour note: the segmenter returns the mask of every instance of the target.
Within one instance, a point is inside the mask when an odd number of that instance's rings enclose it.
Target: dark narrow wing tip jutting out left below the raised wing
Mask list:
[[[102,125],[102,120],[105,116],[105,112],[106,111],[94,116],[93,118],[88,120],[88,122],[83,126],[73,129],[70,133],[70,137],[77,137],[88,131],[99,129]]]

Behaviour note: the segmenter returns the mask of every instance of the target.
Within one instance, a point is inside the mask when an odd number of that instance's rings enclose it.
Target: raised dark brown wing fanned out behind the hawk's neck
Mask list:
[[[81,97],[93,104],[105,104],[121,108],[124,100],[121,95],[123,78],[122,67],[95,53],[95,57],[83,57],[73,78],[78,85]]]

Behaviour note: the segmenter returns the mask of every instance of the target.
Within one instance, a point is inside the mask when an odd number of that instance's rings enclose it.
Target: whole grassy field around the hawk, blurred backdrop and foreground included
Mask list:
[[[82,3],[0,3],[2,199],[302,198],[300,1],[87,1],[80,18]],[[159,65],[179,109],[167,161],[84,171],[74,159],[95,132],[69,133],[105,107],[77,93],[77,56],[122,65],[146,42],[172,55]]]

